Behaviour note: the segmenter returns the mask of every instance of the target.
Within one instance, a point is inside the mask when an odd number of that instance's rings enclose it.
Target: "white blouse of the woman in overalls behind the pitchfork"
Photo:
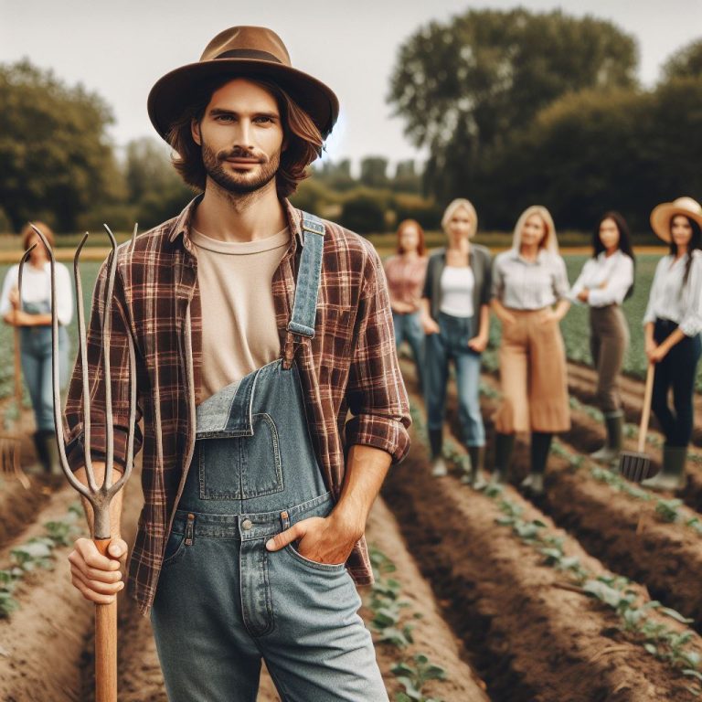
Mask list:
[[[19,265],[14,265],[5,275],[3,293],[0,295],[0,317],[4,317],[12,309],[10,290],[17,287]],[[63,263],[56,264],[56,297],[58,324],[68,326],[73,319],[73,283],[70,280],[69,269]],[[51,264],[47,261],[44,268],[39,270],[31,263],[25,264],[22,275],[22,303],[27,306],[50,312],[51,310]],[[31,312],[29,309],[27,312]]]

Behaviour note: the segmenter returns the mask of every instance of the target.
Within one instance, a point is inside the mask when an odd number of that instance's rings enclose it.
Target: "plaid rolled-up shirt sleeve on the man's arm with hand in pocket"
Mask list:
[[[346,399],[346,446],[373,446],[399,463],[410,450],[410,404],[395,351],[388,288],[375,250],[368,252],[364,291],[356,315],[356,346]]]

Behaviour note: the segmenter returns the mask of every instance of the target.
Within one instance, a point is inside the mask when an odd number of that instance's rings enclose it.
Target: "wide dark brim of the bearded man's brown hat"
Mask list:
[[[260,78],[275,82],[310,115],[324,138],[331,133],[339,115],[339,101],[321,80],[285,64],[256,58],[216,58],[191,63],[166,73],[149,93],[149,119],[163,139],[186,107],[189,96],[203,80],[218,76]]]

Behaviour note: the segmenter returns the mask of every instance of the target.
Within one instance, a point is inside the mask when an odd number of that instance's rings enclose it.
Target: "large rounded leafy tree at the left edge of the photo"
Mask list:
[[[0,207],[15,229],[46,218],[58,231],[122,196],[101,97],[27,60],[0,64]]]

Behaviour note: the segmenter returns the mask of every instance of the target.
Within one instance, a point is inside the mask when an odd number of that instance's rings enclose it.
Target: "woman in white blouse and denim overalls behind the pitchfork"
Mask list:
[[[53,246],[54,235],[42,222],[37,229]],[[54,405],[51,381],[51,276],[47,250],[34,229],[22,231],[22,245],[27,250],[32,244],[29,261],[22,279],[22,303],[17,291],[19,266],[7,271],[3,293],[0,296],[0,316],[6,324],[20,330],[22,374],[32,400],[37,431],[34,442],[37,456],[47,473],[60,473],[58,449],[54,435]],[[58,374],[61,387],[69,377],[69,338],[66,326],[73,316],[73,287],[69,270],[56,264],[56,296],[58,314]]]

